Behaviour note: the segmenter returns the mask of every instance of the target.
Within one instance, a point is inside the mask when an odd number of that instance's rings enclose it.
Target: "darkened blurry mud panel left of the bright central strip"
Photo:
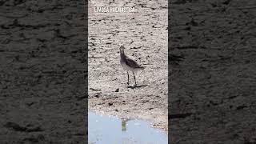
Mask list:
[[[0,143],[85,143],[83,1],[0,2]]]

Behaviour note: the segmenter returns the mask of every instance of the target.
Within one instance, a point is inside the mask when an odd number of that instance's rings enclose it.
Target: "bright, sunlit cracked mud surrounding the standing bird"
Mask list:
[[[91,6],[104,3],[90,3]],[[110,4],[111,5],[111,4]],[[89,109],[142,118],[167,130],[167,2],[115,2],[135,6],[134,15],[89,14]],[[144,71],[136,74],[138,87],[119,62],[119,44]]]

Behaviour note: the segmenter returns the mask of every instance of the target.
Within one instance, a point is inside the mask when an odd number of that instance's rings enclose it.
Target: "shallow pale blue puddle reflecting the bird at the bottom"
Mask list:
[[[89,144],[167,144],[167,134],[150,122],[88,113]]]

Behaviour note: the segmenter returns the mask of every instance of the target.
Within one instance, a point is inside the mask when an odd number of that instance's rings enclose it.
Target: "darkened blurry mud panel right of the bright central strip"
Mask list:
[[[256,142],[255,6],[254,0],[171,3],[173,143]]]

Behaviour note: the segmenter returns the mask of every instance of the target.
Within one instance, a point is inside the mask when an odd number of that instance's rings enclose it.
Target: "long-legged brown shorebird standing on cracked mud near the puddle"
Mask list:
[[[127,84],[129,85],[129,71],[132,71],[132,73],[134,74],[134,72],[137,72],[138,70],[144,70],[144,67],[139,66],[137,62],[135,62],[134,60],[126,56],[124,51],[125,49],[124,46],[120,46],[119,49],[120,49],[120,63],[122,68],[127,71],[127,75],[128,75]],[[134,75],[134,81],[135,81],[135,86],[137,86],[135,75]]]

